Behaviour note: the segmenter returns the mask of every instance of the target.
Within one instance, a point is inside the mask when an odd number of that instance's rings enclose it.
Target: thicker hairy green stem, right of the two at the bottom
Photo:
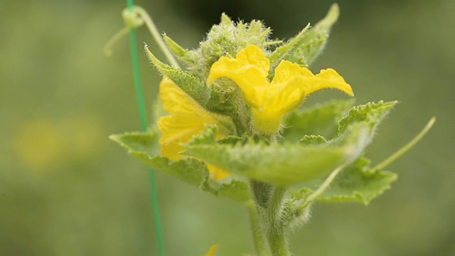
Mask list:
[[[286,188],[276,187],[266,212],[266,221],[268,223],[267,240],[273,256],[291,255],[282,221],[282,205],[285,195]]]

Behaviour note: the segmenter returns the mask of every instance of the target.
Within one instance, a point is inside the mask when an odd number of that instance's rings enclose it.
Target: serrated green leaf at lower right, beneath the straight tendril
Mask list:
[[[365,206],[373,198],[390,189],[390,183],[397,179],[397,174],[380,169],[372,169],[370,160],[357,159],[333,180],[331,186],[317,198],[323,202],[359,202]],[[316,187],[313,187],[316,189]]]

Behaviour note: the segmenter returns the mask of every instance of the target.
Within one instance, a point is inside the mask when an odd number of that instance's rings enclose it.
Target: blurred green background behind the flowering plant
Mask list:
[[[137,1],[161,31],[198,46],[220,14],[264,20],[277,38],[332,1]],[[316,204],[295,255],[455,255],[455,1],[338,1],[341,18],[311,67],[336,68],[358,103],[400,100],[368,149],[376,163],[437,124],[390,166],[370,206]],[[0,1],[0,255],[156,255],[145,167],[109,134],[139,130],[124,1]],[[146,28],[140,42],[154,45]],[[164,58],[162,58],[164,59]],[[146,104],[159,76],[141,54]],[[306,104],[343,97],[330,91]],[[246,210],[157,173],[166,255],[250,252]]]

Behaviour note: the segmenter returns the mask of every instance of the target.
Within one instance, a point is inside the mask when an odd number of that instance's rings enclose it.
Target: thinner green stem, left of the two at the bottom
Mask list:
[[[264,230],[262,228],[261,218],[257,206],[251,202],[247,204],[248,213],[250,213],[250,223],[253,240],[255,243],[255,252],[257,256],[269,256],[270,250],[265,242]]]

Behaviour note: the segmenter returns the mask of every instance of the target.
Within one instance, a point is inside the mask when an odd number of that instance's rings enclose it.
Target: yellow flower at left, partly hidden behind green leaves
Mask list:
[[[181,143],[188,142],[191,137],[203,132],[205,124],[218,126],[216,139],[230,134],[228,124],[232,121],[229,117],[208,112],[166,77],[161,80],[159,85],[159,96],[163,109],[170,114],[158,120],[158,127],[161,131],[159,139],[161,154],[168,159],[181,159],[183,156],[178,154],[184,150]],[[213,178],[219,179],[228,176],[226,171],[210,164],[207,166],[210,173],[213,174]]]

